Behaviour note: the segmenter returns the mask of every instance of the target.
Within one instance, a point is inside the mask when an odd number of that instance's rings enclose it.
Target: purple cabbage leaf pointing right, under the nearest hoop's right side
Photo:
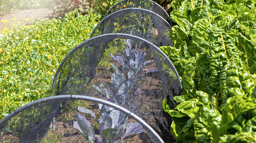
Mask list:
[[[130,122],[126,125],[125,128],[126,128],[126,131],[125,131],[125,134],[123,135],[123,137],[121,137],[121,140],[123,140],[123,138],[125,138],[126,136],[139,134],[144,131],[142,125],[139,123]]]

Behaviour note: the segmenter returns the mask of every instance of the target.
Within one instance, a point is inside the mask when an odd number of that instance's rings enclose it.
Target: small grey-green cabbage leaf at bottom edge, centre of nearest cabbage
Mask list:
[[[117,129],[116,128],[107,128],[102,130],[102,135],[104,137],[104,142],[112,143],[113,141],[117,140],[119,136],[117,136]]]

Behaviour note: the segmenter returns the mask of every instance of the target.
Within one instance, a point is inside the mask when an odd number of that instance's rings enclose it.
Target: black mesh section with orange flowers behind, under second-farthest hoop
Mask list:
[[[106,16],[91,37],[108,33],[124,33],[146,39],[157,47],[172,46],[171,25],[158,14],[141,8],[126,8]]]

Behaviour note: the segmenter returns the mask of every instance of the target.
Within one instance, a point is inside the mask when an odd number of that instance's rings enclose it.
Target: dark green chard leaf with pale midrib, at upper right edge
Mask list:
[[[245,38],[241,33],[236,37],[236,46],[240,52],[243,53],[241,56],[245,61],[245,65],[250,68],[250,73],[256,73],[256,48],[255,45]]]

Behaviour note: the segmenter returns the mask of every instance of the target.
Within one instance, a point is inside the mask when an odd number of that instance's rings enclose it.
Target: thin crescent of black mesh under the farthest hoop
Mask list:
[[[150,10],[163,17],[166,21],[170,21],[171,23],[170,17],[168,16],[167,12],[159,4],[151,0],[122,0],[115,4],[113,7],[111,7],[104,17],[124,8],[141,8]]]

